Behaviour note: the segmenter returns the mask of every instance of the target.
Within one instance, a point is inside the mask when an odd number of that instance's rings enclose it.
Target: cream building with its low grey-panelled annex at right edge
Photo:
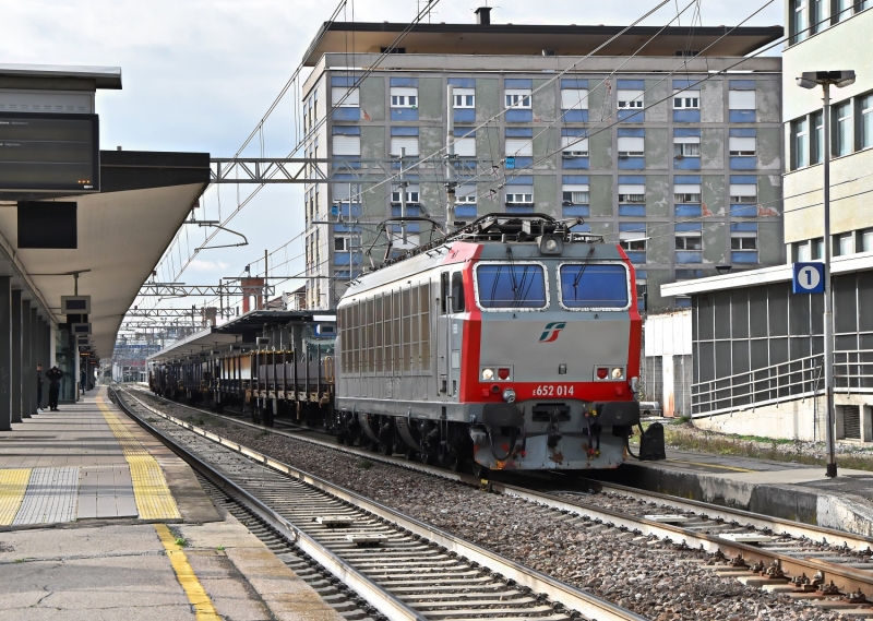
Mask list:
[[[835,437],[873,442],[873,2],[789,0],[784,61],[782,266],[666,285],[692,300],[692,416],[699,427],[826,437],[824,296],[792,292],[791,262],[824,258],[822,87],[803,72],[853,70],[830,87]]]

